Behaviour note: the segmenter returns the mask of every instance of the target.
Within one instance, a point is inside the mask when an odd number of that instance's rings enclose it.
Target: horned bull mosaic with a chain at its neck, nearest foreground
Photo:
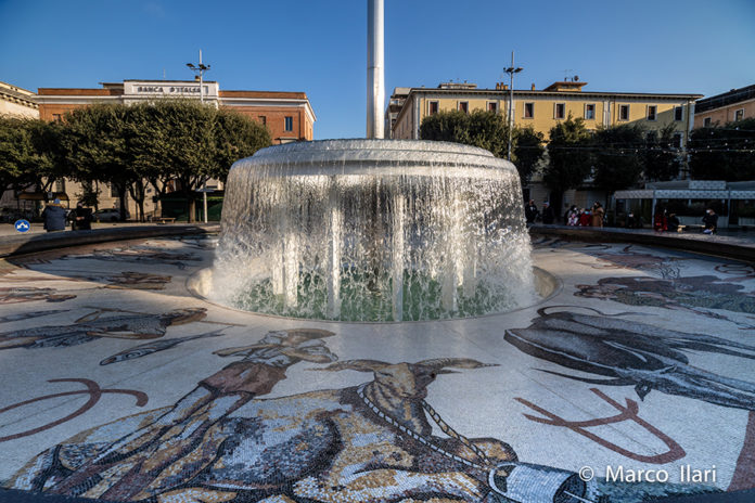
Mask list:
[[[192,398],[192,412],[177,404],[174,411],[126,418],[135,433],[110,447],[93,441],[107,426],[82,433],[33,460],[11,487],[161,503],[502,501],[488,478],[490,466],[516,461],[511,447],[492,438],[433,436],[425,413],[427,385],[438,374],[451,373],[448,367],[485,366],[460,358],[396,364],[351,360],[323,370],[372,372],[374,379],[274,399],[236,399],[239,407],[225,404],[228,395],[212,402]],[[202,416],[195,412],[200,403],[207,409]],[[222,414],[210,423],[203,418],[219,414],[218,409]],[[443,428],[453,431],[430,410]],[[185,425],[179,428],[172,415]],[[197,429],[203,429],[200,437],[194,436]],[[156,436],[163,444],[151,443]],[[184,443],[191,450],[164,464]],[[153,454],[140,456],[144,450]],[[87,459],[102,469],[92,470]],[[61,468],[53,472],[51,466]]]

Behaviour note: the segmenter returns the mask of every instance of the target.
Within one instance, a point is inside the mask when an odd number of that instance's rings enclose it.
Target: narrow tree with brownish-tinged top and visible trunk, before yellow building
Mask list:
[[[568,115],[553,126],[548,142],[548,166],[542,180],[551,191],[551,207],[560,208],[563,193],[578,188],[592,168],[592,136],[581,117]]]

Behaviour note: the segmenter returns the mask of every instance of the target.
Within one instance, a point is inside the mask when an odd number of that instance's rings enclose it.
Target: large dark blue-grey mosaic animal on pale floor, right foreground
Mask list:
[[[580,372],[589,378],[542,372],[609,386],[635,386],[644,397],[653,389],[718,405],[755,410],[755,384],[707,372],[690,364],[688,352],[713,352],[755,359],[755,346],[704,334],[664,330],[616,318],[555,312],[527,328],[506,332],[506,340],[523,352]]]

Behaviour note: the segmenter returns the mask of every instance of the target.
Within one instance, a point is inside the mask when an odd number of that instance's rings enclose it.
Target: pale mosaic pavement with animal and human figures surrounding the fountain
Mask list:
[[[0,482],[104,501],[616,502],[755,487],[755,268],[543,238],[532,308],[221,308],[215,241],[0,262]]]

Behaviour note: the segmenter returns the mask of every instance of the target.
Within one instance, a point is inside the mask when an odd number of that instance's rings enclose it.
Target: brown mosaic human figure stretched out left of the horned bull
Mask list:
[[[219,423],[270,392],[291,365],[337,359],[320,340],[332,335],[315,328],[270,332],[257,344],[216,351],[242,359],[201,381],[172,407],[92,428],[44,451],[7,487],[113,501],[180,488],[215,460],[221,444],[238,440],[219,435]]]

